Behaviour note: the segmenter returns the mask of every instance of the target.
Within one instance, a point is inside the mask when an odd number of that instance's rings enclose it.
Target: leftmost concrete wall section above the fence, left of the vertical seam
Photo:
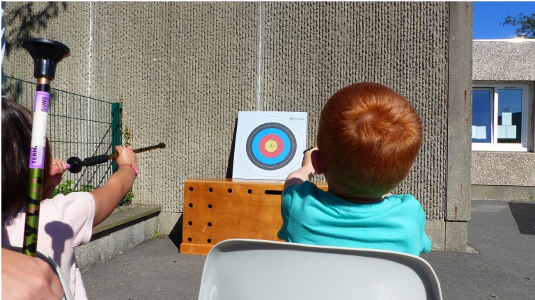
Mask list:
[[[49,38],[70,48],[70,56],[59,63],[52,87],[88,95],[89,5],[87,2],[6,3],[6,57],[4,74],[34,82],[33,61],[22,48],[27,36]]]

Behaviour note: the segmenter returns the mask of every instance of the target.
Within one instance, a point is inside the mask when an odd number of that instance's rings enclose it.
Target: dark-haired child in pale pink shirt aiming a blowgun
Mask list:
[[[29,109],[2,100],[2,244],[22,246],[24,239],[31,120]],[[50,198],[67,171],[67,164],[52,159],[49,149],[47,144],[38,250],[47,253],[61,267],[72,296],[87,299],[75,248],[89,242],[92,228],[102,223],[132,189],[137,177],[137,158],[131,148],[116,146],[119,168],[104,186]]]

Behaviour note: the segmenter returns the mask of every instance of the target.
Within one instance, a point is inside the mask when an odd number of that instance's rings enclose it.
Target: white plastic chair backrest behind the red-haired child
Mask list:
[[[440,283],[422,258],[394,251],[228,239],[206,258],[199,300],[433,299]]]

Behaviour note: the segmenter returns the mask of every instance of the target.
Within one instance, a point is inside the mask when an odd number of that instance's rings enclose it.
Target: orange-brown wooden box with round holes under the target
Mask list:
[[[326,182],[316,184],[327,190]],[[180,253],[206,255],[225,239],[281,241],[283,187],[284,180],[185,180]]]

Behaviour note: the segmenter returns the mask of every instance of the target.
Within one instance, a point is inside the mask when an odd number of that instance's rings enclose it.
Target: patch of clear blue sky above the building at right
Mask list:
[[[506,16],[535,13],[535,1],[525,2],[474,2],[474,40],[515,38],[515,27],[502,26]]]

